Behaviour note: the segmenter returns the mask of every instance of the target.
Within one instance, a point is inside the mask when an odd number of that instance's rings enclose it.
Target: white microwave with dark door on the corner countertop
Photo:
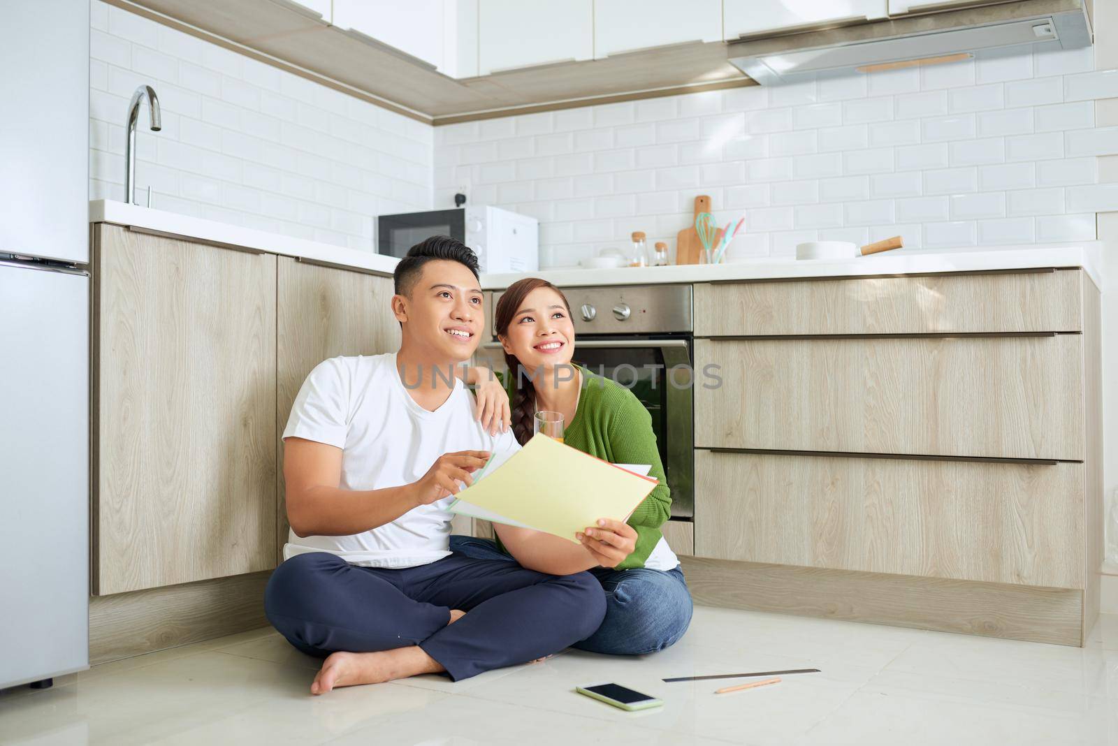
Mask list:
[[[468,246],[477,255],[483,272],[533,272],[540,268],[540,226],[536,218],[489,205],[377,218],[377,254],[404,257],[432,236],[449,236]]]

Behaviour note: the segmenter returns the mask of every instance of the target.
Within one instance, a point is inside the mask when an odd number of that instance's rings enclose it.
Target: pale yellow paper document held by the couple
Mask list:
[[[449,510],[578,544],[576,533],[598,518],[625,520],[660,484],[638,470],[648,467],[622,468],[537,434],[519,451],[494,455]]]

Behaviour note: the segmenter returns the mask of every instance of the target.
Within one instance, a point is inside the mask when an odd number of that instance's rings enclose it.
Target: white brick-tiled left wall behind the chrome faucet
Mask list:
[[[124,121],[140,84],[138,201],[372,250],[375,216],[432,207],[429,125],[93,0],[91,199],[124,199]]]

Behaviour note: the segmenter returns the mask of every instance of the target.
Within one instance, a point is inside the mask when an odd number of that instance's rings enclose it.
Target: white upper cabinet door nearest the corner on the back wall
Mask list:
[[[593,59],[594,0],[479,0],[477,30],[479,75]]]

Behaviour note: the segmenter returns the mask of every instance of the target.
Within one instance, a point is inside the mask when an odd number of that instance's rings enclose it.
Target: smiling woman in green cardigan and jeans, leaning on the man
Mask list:
[[[504,384],[519,442],[532,437],[537,411],[560,412],[568,446],[613,463],[648,463],[648,475],[660,482],[627,523],[599,522],[599,527],[588,527],[588,535],[579,536],[582,547],[561,539],[536,542],[557,563],[544,572],[590,568],[606,593],[605,621],[575,647],[641,654],[671,645],[686,631],[692,604],[679,561],[660,532],[671,516],[672,501],[648,411],[624,386],[571,364],[575,326],[570,307],[559,288],[547,280],[528,278],[511,285],[498,303],[494,328],[509,366]],[[479,383],[489,376],[484,369],[471,373],[471,380]],[[493,401],[492,393],[490,386],[487,395],[480,398],[483,422],[503,413],[504,402]],[[496,528],[501,534],[509,527]],[[451,549],[475,558],[513,561],[500,538],[452,536]]]

